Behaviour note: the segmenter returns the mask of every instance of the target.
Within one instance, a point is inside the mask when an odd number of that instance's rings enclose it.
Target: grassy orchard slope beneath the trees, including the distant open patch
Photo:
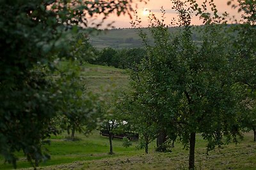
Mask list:
[[[83,74],[93,92],[106,89],[122,90],[127,84],[124,70],[113,67],[93,66],[86,64]],[[114,86],[113,86],[114,84]],[[114,87],[114,89],[113,89]],[[102,90],[100,90],[102,89]],[[114,139],[115,155],[108,155],[108,138],[93,131],[89,136],[77,134],[80,141],[65,141],[67,134],[53,136],[51,160],[41,164],[42,169],[186,169],[188,165],[188,150],[183,150],[180,143],[175,144],[172,153],[157,153],[155,143],[150,144],[150,153],[137,150],[138,142],[133,142],[130,148],[122,147],[120,139]],[[256,143],[252,132],[244,135],[244,140],[238,145],[225,146],[205,155],[205,141],[196,136],[196,168],[197,169],[256,169]],[[29,167],[29,163],[21,153],[18,168]],[[9,164],[3,164],[0,157],[0,169],[12,169]]]

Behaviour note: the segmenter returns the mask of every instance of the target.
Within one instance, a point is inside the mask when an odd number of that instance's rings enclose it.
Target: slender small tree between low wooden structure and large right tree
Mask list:
[[[126,94],[120,104],[122,111],[122,120],[127,122],[130,131],[139,132],[141,140],[141,148],[145,148],[145,153],[148,153],[148,145],[156,139],[156,118],[154,117],[154,106],[148,106],[146,101],[150,96],[145,94],[147,88],[143,87],[144,82],[141,82],[140,76],[136,74],[132,76],[133,92]]]

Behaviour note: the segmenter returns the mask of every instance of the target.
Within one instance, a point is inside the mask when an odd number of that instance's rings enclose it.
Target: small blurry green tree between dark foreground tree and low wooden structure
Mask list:
[[[70,70],[70,68],[73,68]],[[61,70],[62,76],[56,81],[65,83],[60,86],[63,94],[63,106],[61,107],[61,127],[67,129],[68,134],[71,130],[70,138],[74,140],[75,132],[88,134],[95,129],[102,117],[100,110],[101,103],[99,97],[88,92],[83,84],[84,80],[79,76],[79,66],[74,62],[69,62]]]

